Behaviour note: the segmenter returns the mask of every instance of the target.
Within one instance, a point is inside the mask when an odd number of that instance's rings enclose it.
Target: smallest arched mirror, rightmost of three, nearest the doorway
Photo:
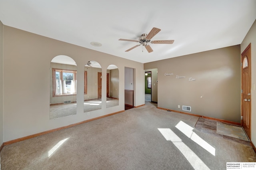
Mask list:
[[[116,65],[107,68],[107,103],[106,107],[119,105],[119,70]]]

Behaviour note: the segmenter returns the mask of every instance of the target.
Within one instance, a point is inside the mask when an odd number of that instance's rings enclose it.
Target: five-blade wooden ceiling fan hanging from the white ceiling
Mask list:
[[[135,45],[134,47],[131,47],[127,49],[125,52],[128,52],[140,45],[143,45],[149,53],[153,51],[153,49],[148,45],[148,43],[162,43],[162,44],[172,44],[174,40],[155,40],[151,41],[151,39],[161,30],[159,28],[152,28],[152,30],[148,34],[142,34],[139,38],[139,40],[127,40],[127,39],[119,39],[119,41],[128,41],[128,42],[139,42],[140,44]]]

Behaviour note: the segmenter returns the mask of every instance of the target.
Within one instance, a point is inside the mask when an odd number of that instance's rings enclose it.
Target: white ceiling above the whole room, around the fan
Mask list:
[[[63,42],[147,63],[237,45],[256,19],[256,0],[0,0],[0,20]],[[161,31],[148,53],[138,40]],[[99,42],[95,47],[90,42]]]

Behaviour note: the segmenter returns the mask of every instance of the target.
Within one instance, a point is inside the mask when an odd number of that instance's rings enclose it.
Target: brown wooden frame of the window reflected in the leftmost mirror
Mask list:
[[[62,97],[62,96],[74,96],[77,93],[72,93],[72,94],[64,94],[64,95],[55,95],[56,91],[56,71],[60,72],[60,80],[63,80],[63,73],[74,73],[74,80],[76,81],[76,70],[70,70],[70,69],[57,69],[57,68],[52,68],[52,97]]]

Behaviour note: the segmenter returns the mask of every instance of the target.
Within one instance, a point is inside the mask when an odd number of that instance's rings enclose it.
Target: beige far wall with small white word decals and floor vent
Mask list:
[[[240,123],[240,45],[144,64],[156,67],[158,107]]]

